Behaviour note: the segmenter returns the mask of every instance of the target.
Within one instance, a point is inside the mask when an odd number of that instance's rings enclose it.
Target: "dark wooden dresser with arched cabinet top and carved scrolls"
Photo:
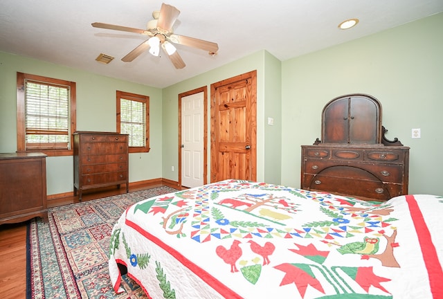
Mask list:
[[[354,93],[323,108],[321,140],[302,145],[301,188],[386,201],[408,194],[409,147],[388,141],[380,102]]]

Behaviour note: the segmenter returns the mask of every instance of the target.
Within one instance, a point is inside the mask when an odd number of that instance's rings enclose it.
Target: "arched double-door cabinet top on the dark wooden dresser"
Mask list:
[[[364,94],[350,94],[328,102],[322,113],[322,142],[381,143],[379,101]]]

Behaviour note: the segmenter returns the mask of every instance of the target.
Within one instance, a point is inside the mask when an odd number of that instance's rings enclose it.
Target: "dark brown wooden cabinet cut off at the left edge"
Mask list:
[[[46,202],[46,154],[0,154],[0,224],[48,221]]]

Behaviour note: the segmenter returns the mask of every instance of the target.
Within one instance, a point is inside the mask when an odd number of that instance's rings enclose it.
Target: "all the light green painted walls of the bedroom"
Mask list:
[[[165,89],[0,52],[0,152],[17,149],[16,72],[33,73],[77,82],[78,130],[115,132],[116,90],[150,96],[151,151],[129,155],[129,181],[178,181],[179,93],[207,86],[209,100],[210,84],[257,70],[258,181],[299,187],[300,145],[320,138],[324,105],[368,93],[381,102],[387,138],[410,147],[410,193],[443,195],[441,28],[443,14],[434,15],[284,62],[258,51]],[[410,137],[413,128],[422,138]],[[47,159],[48,194],[73,190],[72,165],[72,157]]]

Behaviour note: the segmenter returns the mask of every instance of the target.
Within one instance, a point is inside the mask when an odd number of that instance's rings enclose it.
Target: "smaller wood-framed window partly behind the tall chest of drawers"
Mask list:
[[[129,134],[129,152],[149,152],[150,97],[117,91],[117,132]]]

